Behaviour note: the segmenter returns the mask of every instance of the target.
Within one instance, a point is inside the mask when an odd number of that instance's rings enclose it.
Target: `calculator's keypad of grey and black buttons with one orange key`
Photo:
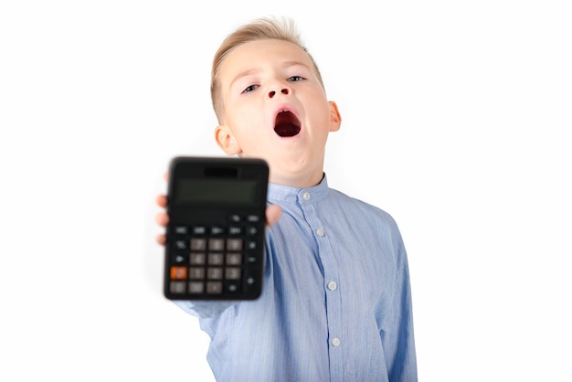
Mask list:
[[[174,299],[233,300],[260,294],[263,219],[230,214],[227,224],[175,224],[168,264]]]

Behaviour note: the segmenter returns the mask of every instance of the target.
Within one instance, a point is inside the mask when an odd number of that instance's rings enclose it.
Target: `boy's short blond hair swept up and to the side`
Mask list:
[[[272,17],[261,17],[249,24],[245,24],[242,27],[238,27],[233,33],[228,35],[224,39],[222,44],[213,58],[213,66],[210,77],[210,97],[213,102],[213,109],[217,114],[217,119],[220,122],[222,115],[224,114],[224,104],[222,97],[220,95],[220,83],[218,81],[218,72],[225,58],[228,54],[240,45],[246,44],[251,41],[258,41],[263,39],[278,39],[283,41],[291,42],[296,46],[302,48],[306,54],[312,60],[314,69],[316,70],[316,76],[322,84],[323,80],[320,70],[316,65],[316,62],[308,52],[308,49],[304,47],[300,33],[296,29],[293,20],[289,18],[272,18]]]

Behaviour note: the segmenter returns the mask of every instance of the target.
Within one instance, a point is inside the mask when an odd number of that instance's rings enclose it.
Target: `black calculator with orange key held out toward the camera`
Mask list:
[[[167,299],[260,297],[268,175],[262,159],[179,156],[171,161]]]

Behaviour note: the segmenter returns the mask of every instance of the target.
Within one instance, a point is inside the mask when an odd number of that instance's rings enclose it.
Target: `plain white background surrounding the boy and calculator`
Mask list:
[[[567,3],[3,2],[0,380],[213,380],[154,197],[171,157],[222,154],[211,58],[271,15],[342,112],[331,186],[402,231],[419,379],[572,380]]]

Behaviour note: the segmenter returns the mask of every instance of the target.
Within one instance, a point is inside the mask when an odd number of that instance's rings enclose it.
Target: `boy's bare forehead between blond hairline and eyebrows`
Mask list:
[[[312,58],[296,44],[278,39],[249,41],[232,49],[222,61],[219,80],[228,85],[241,75],[267,66],[304,65],[313,70]]]

